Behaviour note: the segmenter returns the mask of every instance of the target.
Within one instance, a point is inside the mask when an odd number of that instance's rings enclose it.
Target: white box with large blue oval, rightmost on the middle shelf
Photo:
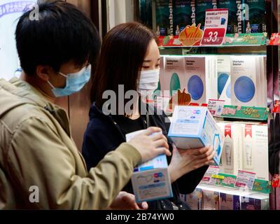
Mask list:
[[[261,106],[258,102],[255,56],[231,57],[231,99],[235,106]]]

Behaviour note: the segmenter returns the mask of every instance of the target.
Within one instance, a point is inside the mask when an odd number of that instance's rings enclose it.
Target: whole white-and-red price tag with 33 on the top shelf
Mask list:
[[[208,9],[201,45],[222,45],[228,27],[228,9]]]

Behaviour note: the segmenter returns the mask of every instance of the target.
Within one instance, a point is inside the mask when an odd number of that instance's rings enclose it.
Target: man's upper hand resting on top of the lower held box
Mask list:
[[[158,133],[161,131],[159,127],[149,127],[128,142],[128,144],[134,146],[139,151],[142,162],[151,160],[160,154],[171,155],[168,149],[167,138],[163,134]]]

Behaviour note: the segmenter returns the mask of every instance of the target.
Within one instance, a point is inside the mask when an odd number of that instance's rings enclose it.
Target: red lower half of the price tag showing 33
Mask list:
[[[225,28],[205,28],[202,45],[221,45],[225,38]]]

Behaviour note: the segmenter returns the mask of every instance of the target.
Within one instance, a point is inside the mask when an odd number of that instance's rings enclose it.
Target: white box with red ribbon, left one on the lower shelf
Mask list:
[[[218,126],[225,135],[220,173],[237,176],[238,170],[242,170],[242,126],[232,123],[218,123]]]

